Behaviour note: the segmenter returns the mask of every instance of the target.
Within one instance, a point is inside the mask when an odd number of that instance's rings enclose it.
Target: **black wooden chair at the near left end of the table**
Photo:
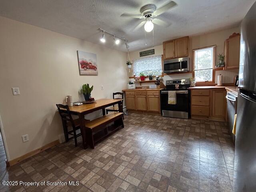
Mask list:
[[[62,125],[64,129],[65,140],[68,142],[68,135],[72,135],[75,140],[75,146],[77,146],[76,138],[81,135],[81,133],[76,134],[76,130],[80,130],[80,120],[73,120],[72,115],[70,113],[69,107],[67,105],[56,104],[60,117],[62,119]],[[72,128],[72,130],[68,130],[68,128]]]

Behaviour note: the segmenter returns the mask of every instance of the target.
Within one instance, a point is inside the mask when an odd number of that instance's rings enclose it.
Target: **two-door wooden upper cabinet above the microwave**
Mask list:
[[[188,56],[188,36],[163,42],[164,60]]]

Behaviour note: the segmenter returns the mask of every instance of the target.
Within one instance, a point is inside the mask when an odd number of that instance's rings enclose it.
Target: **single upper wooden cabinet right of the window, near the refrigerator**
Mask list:
[[[233,33],[225,41],[225,70],[238,69],[240,59],[240,34]]]

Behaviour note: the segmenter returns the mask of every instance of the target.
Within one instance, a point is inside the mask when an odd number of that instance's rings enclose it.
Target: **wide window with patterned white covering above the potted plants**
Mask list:
[[[162,75],[162,56],[134,60],[133,70],[135,76],[139,76],[141,72],[146,76],[151,72],[153,75]]]

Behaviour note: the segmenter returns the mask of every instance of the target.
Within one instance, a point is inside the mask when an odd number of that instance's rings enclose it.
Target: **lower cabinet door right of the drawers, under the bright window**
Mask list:
[[[226,90],[212,91],[212,116],[226,117]]]

